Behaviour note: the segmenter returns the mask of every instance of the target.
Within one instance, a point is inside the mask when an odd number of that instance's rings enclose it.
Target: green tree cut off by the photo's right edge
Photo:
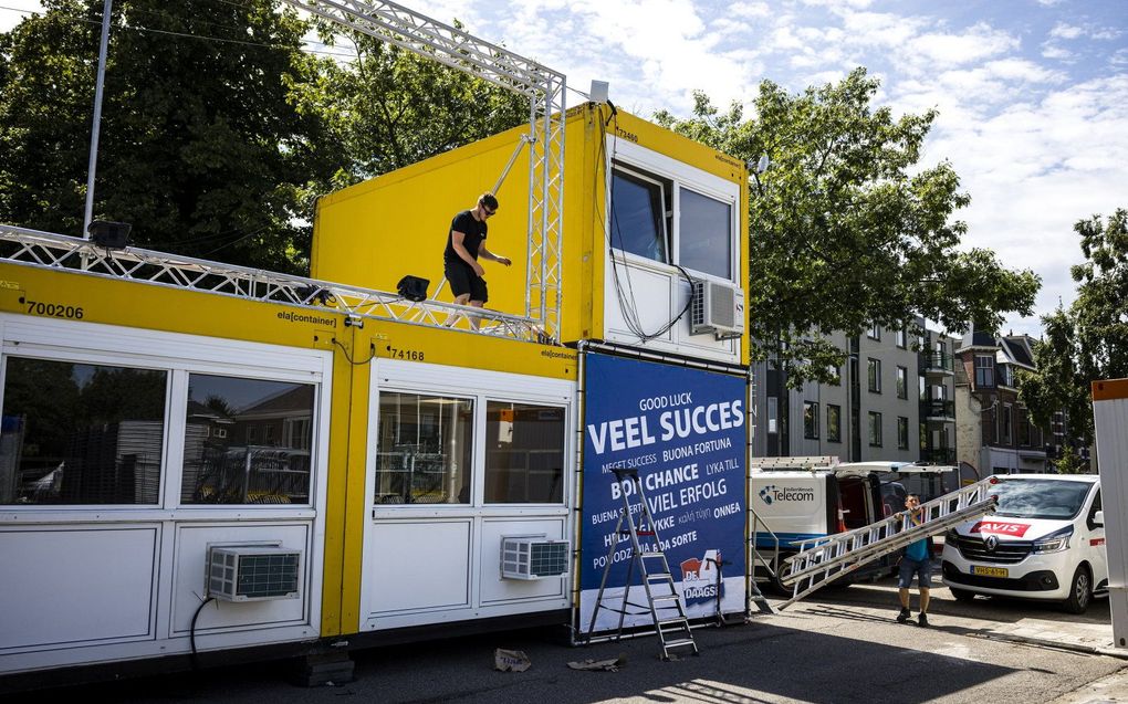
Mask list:
[[[1019,383],[1037,422],[1048,424],[1065,409],[1072,434],[1089,445],[1090,383],[1128,376],[1128,210],[1081,220],[1074,231],[1085,256],[1070,269],[1077,297],[1042,317],[1046,335],[1033,346],[1038,371],[1020,375]]]

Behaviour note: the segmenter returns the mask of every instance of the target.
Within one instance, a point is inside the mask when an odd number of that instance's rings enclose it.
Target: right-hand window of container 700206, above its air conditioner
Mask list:
[[[314,384],[188,376],[183,504],[309,504]]]

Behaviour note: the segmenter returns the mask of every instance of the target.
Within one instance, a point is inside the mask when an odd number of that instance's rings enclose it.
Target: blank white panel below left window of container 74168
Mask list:
[[[376,524],[365,560],[369,613],[469,606],[472,525],[469,519]]]

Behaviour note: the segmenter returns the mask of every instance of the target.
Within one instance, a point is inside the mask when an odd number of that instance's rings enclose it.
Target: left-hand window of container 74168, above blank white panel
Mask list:
[[[469,504],[474,402],[380,393],[377,504]]]

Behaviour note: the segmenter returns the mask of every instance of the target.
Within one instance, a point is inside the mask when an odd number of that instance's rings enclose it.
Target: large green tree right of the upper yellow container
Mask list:
[[[856,69],[837,84],[788,95],[764,81],[746,119],[697,95],[694,116],[659,123],[769,168],[749,203],[751,332],[757,358],[778,354],[791,384],[829,381],[844,362],[822,331],[906,328],[916,314],[951,332],[1029,315],[1040,280],[994,252],[960,250],[969,203],[948,162],[922,168],[936,113],[895,118],[875,107],[879,81]]]

